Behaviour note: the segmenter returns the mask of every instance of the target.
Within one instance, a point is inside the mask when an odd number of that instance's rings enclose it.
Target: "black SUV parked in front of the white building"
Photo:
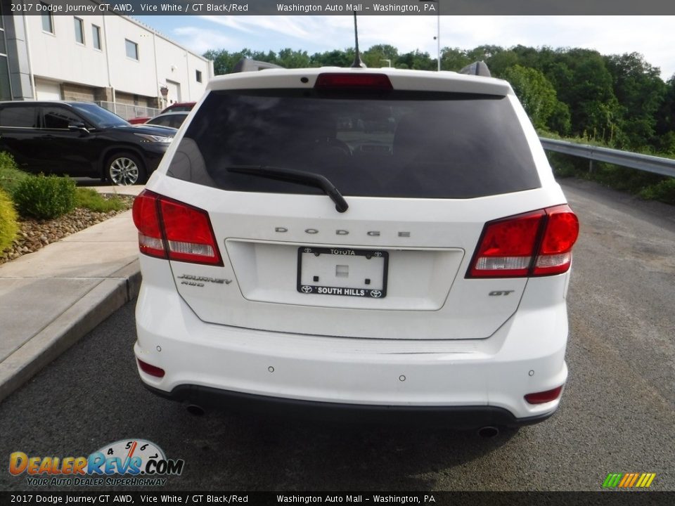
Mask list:
[[[0,151],[30,172],[144,183],[175,129],[132,126],[87,102],[0,102]]]

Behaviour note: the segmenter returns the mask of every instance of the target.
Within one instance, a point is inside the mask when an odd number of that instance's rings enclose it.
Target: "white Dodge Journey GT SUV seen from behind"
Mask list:
[[[558,408],[579,226],[507,82],[217,77],[134,222],[156,394],[456,427]]]

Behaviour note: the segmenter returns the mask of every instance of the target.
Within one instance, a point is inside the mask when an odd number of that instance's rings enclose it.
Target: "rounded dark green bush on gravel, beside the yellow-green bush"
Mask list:
[[[13,193],[21,216],[53,219],[75,209],[75,181],[68,177],[28,176]]]

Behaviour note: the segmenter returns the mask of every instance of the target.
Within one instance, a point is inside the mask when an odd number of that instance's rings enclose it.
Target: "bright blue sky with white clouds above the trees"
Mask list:
[[[209,49],[321,53],[354,46],[351,15],[136,16],[195,53]],[[399,53],[419,49],[437,56],[441,47],[473,49],[491,44],[581,47],[603,54],[641,53],[660,67],[661,77],[675,74],[675,16],[379,16],[359,17],[359,45],[391,44]]]

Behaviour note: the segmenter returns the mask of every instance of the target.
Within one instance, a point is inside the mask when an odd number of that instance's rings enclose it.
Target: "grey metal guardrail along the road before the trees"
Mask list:
[[[558,141],[557,139],[544,137],[540,137],[539,140],[545,150],[587,158],[591,160],[591,163],[593,160],[608,162],[621,165],[622,167],[661,174],[662,176],[675,177],[675,160],[671,160],[670,158],[641,155],[640,153],[631,153],[630,151],[600,148],[599,146]]]

